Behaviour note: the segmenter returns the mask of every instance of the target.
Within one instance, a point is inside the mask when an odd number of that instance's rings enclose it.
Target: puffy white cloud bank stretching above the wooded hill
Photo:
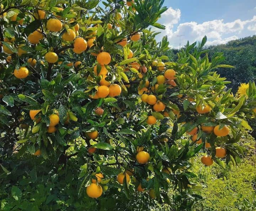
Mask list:
[[[162,14],[159,22],[166,26],[166,29],[160,30],[154,28],[155,31],[161,31],[158,36],[161,39],[162,36],[167,35],[170,45],[174,48],[178,48],[180,38],[178,35],[185,34],[181,37],[181,45],[185,45],[187,40],[190,43],[197,40],[201,40],[204,35],[207,36],[207,45],[224,44],[233,39],[238,39],[239,34],[249,30],[256,31],[256,16],[252,19],[242,21],[240,19],[233,22],[224,22],[224,20],[212,20],[203,23],[186,22],[180,23],[176,30],[174,30],[175,24],[178,24],[181,18],[180,9],[173,9],[169,7],[167,11]]]

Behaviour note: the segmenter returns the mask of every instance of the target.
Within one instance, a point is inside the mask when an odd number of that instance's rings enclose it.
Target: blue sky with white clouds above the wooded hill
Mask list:
[[[160,23],[166,26],[158,40],[167,35],[170,45],[181,45],[208,37],[208,45],[256,34],[256,0],[165,0],[169,9]]]

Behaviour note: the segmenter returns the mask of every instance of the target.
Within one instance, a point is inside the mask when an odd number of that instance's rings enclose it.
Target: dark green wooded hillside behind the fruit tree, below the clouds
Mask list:
[[[231,84],[227,86],[233,88],[236,93],[240,83],[247,83],[256,79],[256,36],[232,40],[227,44],[210,46],[209,56],[216,52],[223,52],[226,60],[225,64],[233,65],[233,69],[219,69],[222,77],[226,77]]]

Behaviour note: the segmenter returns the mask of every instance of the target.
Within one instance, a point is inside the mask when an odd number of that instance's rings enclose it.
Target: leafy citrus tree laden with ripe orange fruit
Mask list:
[[[187,197],[191,157],[239,162],[255,85],[250,99],[226,91],[214,69],[232,66],[209,61],[206,37],[168,61],[167,37],[149,29],[165,28],[163,3],[2,1],[2,209],[136,210],[137,197],[172,205],[172,189],[185,210],[200,199]]]

